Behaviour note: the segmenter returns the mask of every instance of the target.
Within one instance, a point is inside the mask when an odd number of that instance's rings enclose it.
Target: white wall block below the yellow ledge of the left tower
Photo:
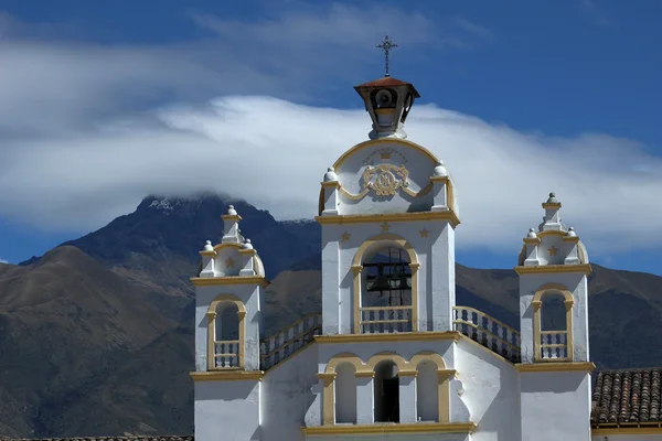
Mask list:
[[[261,440],[260,386],[258,380],[195,381],[195,440]]]

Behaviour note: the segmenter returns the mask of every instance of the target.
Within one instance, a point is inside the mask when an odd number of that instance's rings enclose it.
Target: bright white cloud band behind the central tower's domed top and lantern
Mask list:
[[[551,191],[591,251],[662,245],[651,204],[662,192],[662,160],[634,141],[522,133],[434,105],[416,106],[408,121],[410,139],[442,158],[455,175],[462,247],[516,248],[540,223],[540,204]],[[172,106],[130,122],[17,141],[0,186],[21,191],[0,196],[4,214],[94,229],[148,193],[211,189],[280,218],[312,217],[327,166],[370,130],[363,110],[264,96]]]

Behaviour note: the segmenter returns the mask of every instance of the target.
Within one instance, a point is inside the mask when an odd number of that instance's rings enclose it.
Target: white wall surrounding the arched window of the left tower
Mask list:
[[[255,284],[195,287],[195,370],[207,369],[207,318],[210,303],[222,294],[238,298],[246,306],[245,369],[259,370],[260,291]]]

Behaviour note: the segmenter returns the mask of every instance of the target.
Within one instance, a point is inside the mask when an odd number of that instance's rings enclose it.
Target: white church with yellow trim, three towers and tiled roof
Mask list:
[[[269,282],[232,206],[200,251],[195,440],[662,440],[661,369],[594,374],[591,267],[556,196],[523,232],[519,329],[456,304],[458,192],[403,129],[418,92],[355,89],[373,130],[321,182],[321,314],[263,335]]]

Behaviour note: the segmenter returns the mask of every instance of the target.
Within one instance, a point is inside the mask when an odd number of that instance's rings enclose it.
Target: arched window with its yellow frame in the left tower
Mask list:
[[[244,318],[246,309],[234,295],[216,298],[207,311],[207,369],[244,367]]]

